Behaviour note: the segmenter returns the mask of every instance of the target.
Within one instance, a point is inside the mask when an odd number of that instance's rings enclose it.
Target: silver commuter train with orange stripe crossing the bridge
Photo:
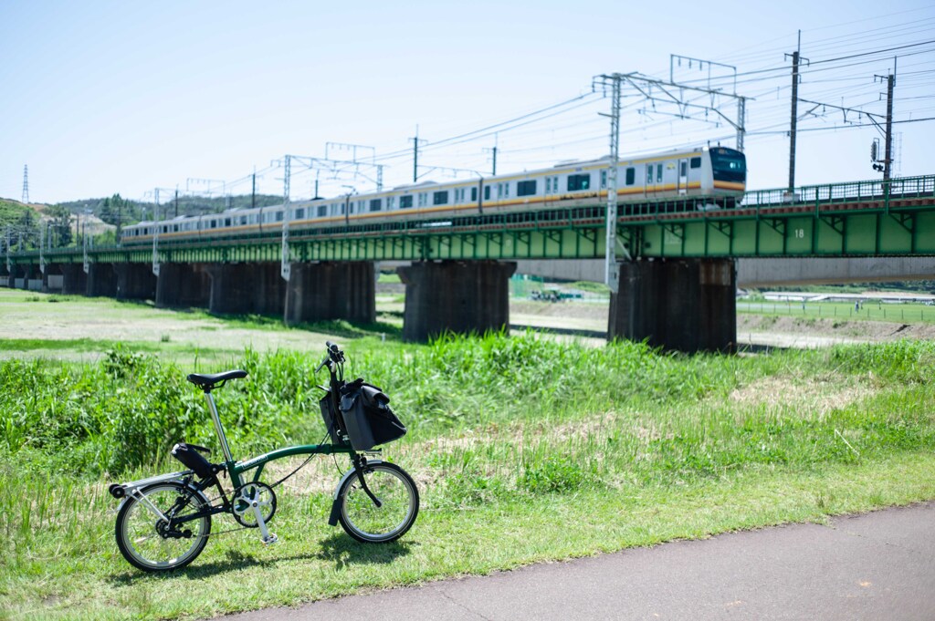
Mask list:
[[[289,204],[289,230],[300,234],[302,229],[412,221],[430,226],[470,216],[604,206],[609,171],[609,159],[563,162],[519,174],[427,181],[368,194],[316,198]],[[731,207],[741,200],[745,188],[746,160],[732,148],[621,159],[617,169],[617,201],[625,213],[631,205],[660,201],[686,209]],[[165,242],[275,235],[281,234],[285,218],[284,205],[180,216],[125,227],[121,241],[123,245],[151,244],[153,234]]]

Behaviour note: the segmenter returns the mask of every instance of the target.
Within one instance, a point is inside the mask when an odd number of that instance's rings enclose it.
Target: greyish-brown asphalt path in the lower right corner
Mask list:
[[[935,503],[378,591],[227,621],[935,620]]]

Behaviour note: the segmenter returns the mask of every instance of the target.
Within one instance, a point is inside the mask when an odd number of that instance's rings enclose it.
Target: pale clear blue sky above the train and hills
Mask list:
[[[280,194],[282,172],[269,164],[284,154],[321,157],[326,142],[340,142],[372,146],[386,158],[410,148],[417,125],[428,141],[425,164],[489,171],[483,149],[495,140],[499,172],[596,157],[608,151],[608,121],[597,114],[608,100],[598,97],[496,136],[431,143],[591,92],[598,74],[668,78],[670,53],[737,65],[738,91],[755,97],[747,119],[750,185],[782,187],[788,70],[743,74],[788,67],[784,52],[795,49],[798,29],[802,55],[826,61],[803,67],[800,97],[883,114],[885,87],[873,75],[888,73],[899,54],[896,118],[935,117],[935,43],[924,43],[935,40],[930,2],[6,0],[0,196],[21,197],[23,164],[33,202],[114,192],[140,199],[154,188],[221,191],[221,180],[225,191],[249,193],[242,179],[254,166],[260,191]],[[677,78],[705,75],[693,65]],[[622,153],[718,139],[733,145],[725,124],[676,120],[661,108],[643,114],[636,100],[626,102]],[[733,114],[734,106],[724,110]],[[817,111],[826,114],[799,124],[809,131],[799,135],[798,183],[875,176],[869,154],[877,131],[827,131],[842,124],[841,113]],[[896,127],[899,173],[935,174],[935,121]],[[410,181],[408,153],[381,162],[387,185]],[[298,171],[293,195],[310,195],[313,177]],[[362,178],[321,180],[325,195],[344,184],[372,188]]]

